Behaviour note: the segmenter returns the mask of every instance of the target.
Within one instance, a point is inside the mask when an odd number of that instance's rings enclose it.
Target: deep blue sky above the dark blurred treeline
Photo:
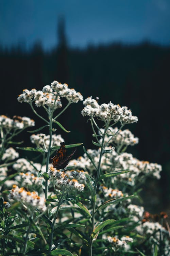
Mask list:
[[[170,44],[169,0],[0,0],[0,45],[40,40],[57,43],[57,18],[65,16],[68,44]]]

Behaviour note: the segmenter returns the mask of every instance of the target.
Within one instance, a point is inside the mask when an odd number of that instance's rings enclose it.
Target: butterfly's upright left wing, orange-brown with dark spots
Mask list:
[[[54,157],[51,158],[52,165],[56,169],[61,169],[60,166],[64,159],[66,159],[66,146],[64,142],[60,143],[60,148],[56,150]]]

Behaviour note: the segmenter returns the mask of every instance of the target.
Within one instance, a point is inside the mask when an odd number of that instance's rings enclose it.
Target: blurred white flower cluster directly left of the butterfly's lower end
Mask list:
[[[13,165],[14,170],[18,172],[28,172],[30,171],[33,174],[37,174],[38,171],[41,170],[41,172],[46,171],[46,165],[42,166],[40,163],[34,163],[33,161],[28,161],[25,158],[19,158],[17,159],[16,163]]]

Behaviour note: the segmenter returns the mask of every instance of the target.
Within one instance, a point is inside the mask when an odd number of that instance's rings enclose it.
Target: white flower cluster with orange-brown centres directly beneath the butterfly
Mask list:
[[[78,175],[78,173],[79,173],[79,175]],[[64,186],[67,186],[68,188],[69,187],[75,188],[75,189],[78,189],[79,191],[84,190],[85,185],[79,183],[78,180],[76,180],[76,179],[70,180],[67,172],[56,170],[54,167],[50,167],[50,169],[48,171],[48,175],[51,176],[55,180],[55,183],[58,185],[64,185]],[[73,175],[73,173],[72,173],[72,175]],[[77,179],[82,179],[82,177],[83,177],[81,172],[77,172],[76,176],[77,176]]]

